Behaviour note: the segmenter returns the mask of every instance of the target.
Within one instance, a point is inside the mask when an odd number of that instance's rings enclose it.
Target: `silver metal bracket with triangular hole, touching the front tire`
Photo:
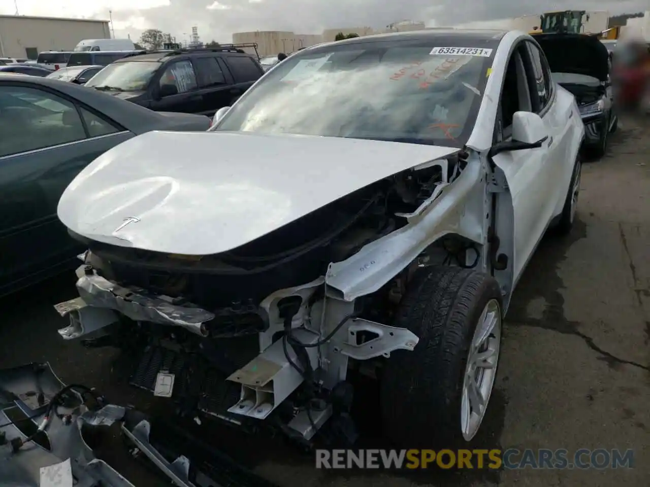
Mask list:
[[[356,318],[351,320],[348,326],[348,342],[337,345],[343,355],[356,360],[368,360],[376,356],[389,357],[393,350],[413,351],[419,338],[417,335],[406,328],[389,327],[369,321],[367,319]],[[376,335],[367,342],[357,343],[357,334],[366,331]]]

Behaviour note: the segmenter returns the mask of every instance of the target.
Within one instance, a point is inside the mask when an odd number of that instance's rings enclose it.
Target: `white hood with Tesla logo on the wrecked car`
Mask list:
[[[243,132],[148,132],[86,166],[59,219],[99,242],[183,255],[244,245],[454,147]]]

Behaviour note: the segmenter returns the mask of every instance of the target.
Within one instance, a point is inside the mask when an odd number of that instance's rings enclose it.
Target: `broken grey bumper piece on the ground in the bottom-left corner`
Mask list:
[[[0,371],[0,439],[3,440],[0,442],[0,484],[3,487],[68,487],[65,483],[67,466],[52,467],[69,462],[70,473],[76,479],[75,487],[134,487],[103,460],[95,458],[81,434],[83,425],[110,424],[122,419],[125,409],[120,406],[108,405],[94,412],[80,406],[61,406],[59,412],[62,416],[70,414],[76,420],[66,424],[59,415],[53,415],[49,427],[38,440],[35,438],[18,452],[12,452],[11,440],[27,438],[23,429],[27,429],[30,423],[32,431],[36,428],[44,417],[49,400],[63,387],[49,364],[28,364]],[[34,396],[36,402],[21,399]],[[57,475],[54,475],[55,471]]]

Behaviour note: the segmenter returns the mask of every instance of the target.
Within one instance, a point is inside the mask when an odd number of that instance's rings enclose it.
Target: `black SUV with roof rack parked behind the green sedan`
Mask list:
[[[117,60],[85,86],[157,112],[213,116],[263,74],[254,56],[234,46],[176,49]]]

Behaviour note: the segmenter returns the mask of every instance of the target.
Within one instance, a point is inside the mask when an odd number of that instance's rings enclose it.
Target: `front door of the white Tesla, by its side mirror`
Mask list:
[[[515,112],[539,111],[536,80],[526,69],[526,45],[520,42],[513,50],[499,98],[499,119],[495,142],[512,139],[512,121]],[[530,79],[532,77],[532,79]],[[532,92],[532,93],[531,93]],[[542,118],[545,112],[541,112]],[[550,138],[550,137],[549,137]],[[513,282],[541,239],[552,212],[549,186],[552,177],[549,167],[548,141],[539,149],[500,153],[493,157],[508,182],[513,206]]]

